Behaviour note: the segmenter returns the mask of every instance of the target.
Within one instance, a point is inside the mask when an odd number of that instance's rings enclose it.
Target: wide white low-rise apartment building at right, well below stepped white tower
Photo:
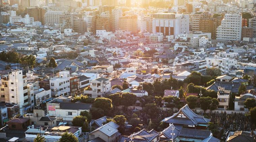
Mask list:
[[[229,74],[230,69],[240,67],[232,58],[207,57],[205,60],[208,65],[219,68],[222,74]]]

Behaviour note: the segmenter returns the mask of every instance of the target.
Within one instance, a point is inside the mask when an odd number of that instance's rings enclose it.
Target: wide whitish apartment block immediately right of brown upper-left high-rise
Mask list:
[[[60,24],[60,16],[64,14],[64,11],[51,11],[51,10],[48,10],[46,13],[45,13],[45,24],[48,25],[48,24],[56,24],[56,25],[59,25]]]

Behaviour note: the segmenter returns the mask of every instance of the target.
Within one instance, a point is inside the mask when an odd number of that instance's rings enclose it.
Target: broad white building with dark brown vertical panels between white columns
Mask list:
[[[167,35],[179,35],[189,33],[189,15],[158,13],[153,15],[153,33]]]

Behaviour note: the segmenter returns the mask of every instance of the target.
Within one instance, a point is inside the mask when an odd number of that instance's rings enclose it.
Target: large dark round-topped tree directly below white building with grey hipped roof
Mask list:
[[[96,98],[92,107],[101,108],[104,110],[104,114],[107,115],[108,112],[112,109],[112,100],[109,98]]]

